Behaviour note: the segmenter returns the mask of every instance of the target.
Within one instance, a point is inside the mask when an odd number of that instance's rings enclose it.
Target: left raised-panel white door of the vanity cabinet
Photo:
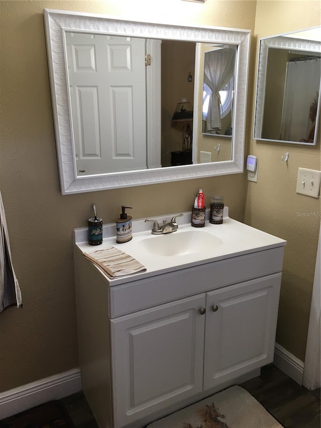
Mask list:
[[[115,428],[202,391],[205,300],[197,295],[110,321]]]

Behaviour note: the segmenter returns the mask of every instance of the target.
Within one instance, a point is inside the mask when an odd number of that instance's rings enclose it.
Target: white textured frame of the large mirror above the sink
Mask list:
[[[133,22],[110,18],[105,15],[51,9],[44,10],[44,19],[59,176],[61,193],[63,195],[243,172],[250,30],[210,26],[184,27]],[[238,45],[235,73],[236,96],[234,99],[235,114],[233,118],[232,160],[77,177],[71,110],[67,92],[66,53],[64,49],[65,31]],[[199,70],[196,70],[195,79],[197,79],[197,76],[199,76]],[[197,126],[194,126],[194,128],[196,131]]]

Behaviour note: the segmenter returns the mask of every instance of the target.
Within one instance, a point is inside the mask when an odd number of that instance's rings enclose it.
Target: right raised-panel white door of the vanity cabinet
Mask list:
[[[273,361],[281,274],[207,294],[204,390]]]

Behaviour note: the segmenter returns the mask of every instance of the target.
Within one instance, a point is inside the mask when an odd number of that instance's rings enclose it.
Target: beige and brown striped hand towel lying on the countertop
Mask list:
[[[132,275],[146,270],[145,266],[134,257],[115,247],[96,250],[90,254],[84,252],[83,254],[111,278]]]

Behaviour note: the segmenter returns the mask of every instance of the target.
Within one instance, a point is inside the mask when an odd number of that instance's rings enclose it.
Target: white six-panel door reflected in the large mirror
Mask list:
[[[145,40],[66,33],[77,175],[147,168]]]

